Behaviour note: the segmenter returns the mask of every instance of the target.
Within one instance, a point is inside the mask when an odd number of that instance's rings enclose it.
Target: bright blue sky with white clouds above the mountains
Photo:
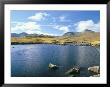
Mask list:
[[[61,36],[66,32],[100,31],[100,11],[12,10],[11,33]]]

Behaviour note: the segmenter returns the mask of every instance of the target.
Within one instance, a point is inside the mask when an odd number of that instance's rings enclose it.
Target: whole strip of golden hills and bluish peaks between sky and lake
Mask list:
[[[16,34],[15,34],[16,36]],[[83,32],[66,32],[62,36],[49,36],[39,34],[22,33],[19,37],[12,37],[12,44],[74,44],[74,45],[92,45],[100,46],[100,33],[91,30]]]

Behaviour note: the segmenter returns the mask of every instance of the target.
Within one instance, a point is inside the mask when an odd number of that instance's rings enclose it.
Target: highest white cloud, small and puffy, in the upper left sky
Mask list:
[[[47,14],[46,12],[40,12],[40,13],[36,13],[34,16],[28,17],[28,19],[32,21],[41,21],[44,20],[45,17],[47,16],[49,16],[49,14]]]

